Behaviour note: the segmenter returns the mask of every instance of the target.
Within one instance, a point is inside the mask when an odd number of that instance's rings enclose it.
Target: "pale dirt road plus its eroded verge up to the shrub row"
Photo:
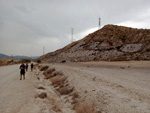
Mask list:
[[[19,66],[0,67],[0,113],[72,113],[51,88],[50,81],[44,80],[43,72],[29,70],[26,79],[20,80]],[[43,92],[47,97],[39,98]]]

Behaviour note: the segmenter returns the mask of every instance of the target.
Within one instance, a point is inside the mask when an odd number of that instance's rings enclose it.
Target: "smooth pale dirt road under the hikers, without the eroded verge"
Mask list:
[[[0,67],[0,113],[42,113],[34,98],[35,76],[28,71],[19,80],[19,74],[19,65]]]

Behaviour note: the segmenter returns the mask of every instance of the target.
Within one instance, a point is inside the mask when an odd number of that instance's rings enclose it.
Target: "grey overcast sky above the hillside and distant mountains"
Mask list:
[[[0,53],[39,56],[107,24],[150,29],[150,0],[0,0]]]

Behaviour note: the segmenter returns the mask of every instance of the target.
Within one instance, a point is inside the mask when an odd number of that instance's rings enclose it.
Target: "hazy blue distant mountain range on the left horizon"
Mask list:
[[[0,58],[13,58],[13,59],[37,59],[39,56],[32,56],[32,57],[29,57],[29,56],[19,56],[19,55],[16,55],[16,56],[8,56],[8,55],[5,55],[5,54],[2,54],[0,53]]]

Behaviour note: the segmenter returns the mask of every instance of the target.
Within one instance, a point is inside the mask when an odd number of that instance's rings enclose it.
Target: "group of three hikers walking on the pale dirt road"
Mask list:
[[[30,66],[31,66],[31,71],[32,71],[34,67],[33,63],[31,63]],[[20,80],[22,80],[22,76],[23,76],[23,79],[25,79],[25,72],[27,71],[28,71],[28,63],[26,64],[22,63],[20,65]]]

